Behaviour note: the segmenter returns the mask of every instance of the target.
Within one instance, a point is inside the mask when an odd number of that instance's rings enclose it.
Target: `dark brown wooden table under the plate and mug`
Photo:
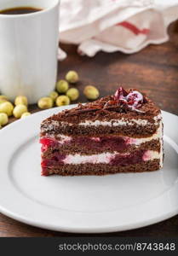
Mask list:
[[[100,89],[100,96],[106,96],[123,84],[126,88],[135,87],[145,91],[160,108],[178,114],[178,21],[169,26],[169,34],[168,43],[150,45],[133,55],[100,52],[94,58],[89,58],[79,56],[76,46],[61,45],[68,57],[59,63],[58,78],[63,79],[68,70],[78,71],[79,102],[86,102],[82,94],[84,85],[94,84]],[[38,109],[31,106],[30,110],[36,112]],[[0,236],[70,235],[81,236],[34,228],[0,214]],[[178,216],[138,230],[93,236],[178,236]]]

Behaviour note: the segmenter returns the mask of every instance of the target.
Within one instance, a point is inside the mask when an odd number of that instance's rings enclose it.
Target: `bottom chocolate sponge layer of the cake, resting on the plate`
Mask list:
[[[82,164],[82,165],[65,165],[56,166],[53,169],[44,167],[42,169],[43,176],[50,174],[58,174],[61,176],[77,176],[77,175],[106,175],[119,172],[152,172],[160,168],[159,160],[148,160],[129,166],[109,166],[105,164]]]

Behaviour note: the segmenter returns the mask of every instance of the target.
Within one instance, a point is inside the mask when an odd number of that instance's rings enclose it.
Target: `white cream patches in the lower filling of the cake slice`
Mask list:
[[[90,154],[90,155],[81,155],[81,154],[68,154],[63,160],[65,164],[68,165],[80,165],[80,164],[109,164],[111,160],[118,154],[114,153],[102,153],[102,154]],[[126,156],[129,154],[119,154],[121,156]],[[160,153],[157,151],[147,150],[143,155],[143,160],[154,160],[159,159]]]

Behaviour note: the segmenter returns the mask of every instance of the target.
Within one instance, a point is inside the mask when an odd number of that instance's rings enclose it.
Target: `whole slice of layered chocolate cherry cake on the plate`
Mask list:
[[[79,104],[41,125],[42,175],[104,175],[163,166],[160,109],[141,92]]]

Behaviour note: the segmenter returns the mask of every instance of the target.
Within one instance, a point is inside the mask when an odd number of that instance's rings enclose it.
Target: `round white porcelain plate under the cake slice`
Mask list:
[[[72,108],[69,106],[65,108]],[[0,211],[49,230],[131,230],[178,213],[178,117],[163,111],[164,168],[103,177],[40,176],[40,123],[52,108],[0,131]]]

